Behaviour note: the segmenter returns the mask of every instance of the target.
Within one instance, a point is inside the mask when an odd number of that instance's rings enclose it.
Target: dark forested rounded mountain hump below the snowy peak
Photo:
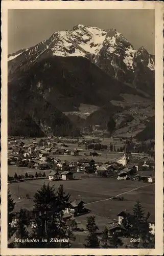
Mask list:
[[[9,133],[10,127],[15,127],[15,118],[17,123],[28,115],[39,127],[39,134],[70,135],[74,131],[77,135],[76,125],[62,112],[78,111],[81,103],[99,106],[100,111],[107,105],[103,115],[96,117],[95,121],[87,121],[97,124],[102,116],[107,119],[123,110],[111,101],[121,101],[124,105],[125,93],[129,97],[133,95],[149,100],[134,88],[109,77],[83,57],[42,59],[21,74],[16,73],[8,83]],[[14,115],[13,111],[17,114]]]

